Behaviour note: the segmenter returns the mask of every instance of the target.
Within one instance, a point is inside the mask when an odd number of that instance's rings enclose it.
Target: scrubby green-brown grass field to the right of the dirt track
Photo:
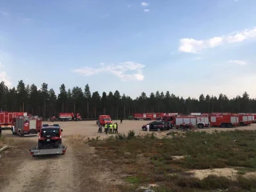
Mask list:
[[[184,132],[172,138],[116,134],[106,140],[90,140],[97,154],[122,167],[128,184],[159,183],[156,191],[207,191],[256,189],[253,178],[186,175],[188,170],[239,167],[239,175],[256,170],[256,131]],[[175,158],[174,156],[182,156]],[[184,156],[184,157],[183,157]]]

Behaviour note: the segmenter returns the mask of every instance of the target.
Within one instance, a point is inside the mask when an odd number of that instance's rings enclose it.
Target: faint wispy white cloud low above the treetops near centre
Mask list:
[[[72,70],[72,72],[83,74],[84,76],[93,76],[95,74],[108,72],[115,75],[116,77],[119,77],[123,81],[143,81],[144,79],[142,69],[145,67],[145,65],[142,65],[141,63],[127,61],[124,63],[119,63],[118,65],[106,65],[105,63],[104,65],[102,65],[102,63],[100,65],[101,67],[99,68],[77,68]],[[129,74],[127,74],[127,72],[129,72]]]

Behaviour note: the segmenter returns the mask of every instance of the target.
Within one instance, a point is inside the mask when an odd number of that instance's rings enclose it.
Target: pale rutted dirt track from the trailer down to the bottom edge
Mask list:
[[[20,191],[79,191],[74,175],[72,147],[64,156],[31,157],[17,166],[18,170],[10,178],[10,184],[3,192]]]

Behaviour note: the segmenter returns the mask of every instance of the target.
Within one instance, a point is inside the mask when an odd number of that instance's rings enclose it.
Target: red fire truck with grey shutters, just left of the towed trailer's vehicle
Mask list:
[[[24,136],[37,134],[42,127],[42,120],[35,117],[16,116],[12,118],[12,134]]]

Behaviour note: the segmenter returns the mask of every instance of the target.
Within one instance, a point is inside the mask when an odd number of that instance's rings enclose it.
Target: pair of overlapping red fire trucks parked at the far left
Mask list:
[[[0,129],[10,129],[12,134],[24,136],[37,134],[42,127],[42,118],[26,112],[0,112]]]

